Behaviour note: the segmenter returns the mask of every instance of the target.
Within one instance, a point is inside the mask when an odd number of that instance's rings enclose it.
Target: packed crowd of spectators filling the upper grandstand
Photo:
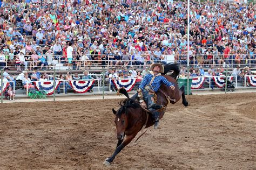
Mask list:
[[[190,6],[191,63],[256,63],[255,4]],[[0,13],[0,67],[8,60],[17,70],[42,69],[61,60],[70,69],[92,63],[145,68],[168,62],[168,55],[187,62],[185,2],[23,0],[2,3]]]

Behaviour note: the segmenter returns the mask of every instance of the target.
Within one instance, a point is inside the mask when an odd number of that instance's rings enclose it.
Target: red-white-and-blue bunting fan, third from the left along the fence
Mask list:
[[[69,81],[70,86],[77,92],[77,93],[85,93],[88,91],[95,80],[71,80]]]

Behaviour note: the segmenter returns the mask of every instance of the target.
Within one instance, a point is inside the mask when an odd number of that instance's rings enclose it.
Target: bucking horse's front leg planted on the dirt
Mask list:
[[[137,133],[136,133],[137,134]],[[110,158],[107,158],[105,161],[104,161],[104,165],[110,165],[110,163],[114,160],[114,158],[116,158],[116,155],[122,151],[122,149],[128,145],[132,139],[136,136],[136,134],[132,134],[132,135],[129,135],[129,136],[126,136],[126,139],[124,140],[123,143],[121,143],[117,148],[116,150],[114,151],[114,153],[112,154],[112,156]],[[119,143],[120,140],[118,140],[118,143]],[[118,145],[117,143],[117,145]]]

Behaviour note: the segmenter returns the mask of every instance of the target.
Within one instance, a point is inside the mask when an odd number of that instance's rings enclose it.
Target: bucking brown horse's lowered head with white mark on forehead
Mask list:
[[[125,110],[120,108],[118,111],[112,109],[113,114],[116,115],[114,123],[116,123],[117,139],[123,140],[125,136],[125,130],[128,126],[127,116]]]

